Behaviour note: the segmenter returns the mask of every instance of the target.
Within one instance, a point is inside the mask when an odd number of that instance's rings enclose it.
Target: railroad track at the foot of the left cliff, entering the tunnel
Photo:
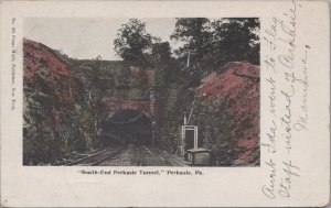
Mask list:
[[[103,163],[104,161],[107,161],[114,156],[116,156],[117,154],[119,154],[122,150],[125,150],[126,147],[118,147],[118,149],[105,149],[100,152],[97,152],[95,154],[85,156],[83,158],[79,158],[77,161],[74,161],[72,163],[66,164],[66,166],[73,166],[73,165],[77,165],[77,166],[97,166],[100,163]]]

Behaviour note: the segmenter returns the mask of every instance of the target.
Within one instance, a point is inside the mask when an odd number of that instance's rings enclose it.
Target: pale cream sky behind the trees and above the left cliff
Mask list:
[[[179,43],[170,40],[175,19],[140,19],[146,22],[146,31],[172,47]],[[24,37],[40,42],[53,50],[61,50],[70,57],[78,59],[120,59],[114,51],[117,30],[129,19],[51,19],[29,18],[24,20]]]

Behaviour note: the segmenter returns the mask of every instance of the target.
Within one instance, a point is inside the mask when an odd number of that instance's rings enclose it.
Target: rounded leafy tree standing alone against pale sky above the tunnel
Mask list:
[[[118,30],[114,41],[115,51],[124,61],[131,61],[145,65],[146,54],[151,50],[153,37],[146,32],[143,22],[130,19]]]

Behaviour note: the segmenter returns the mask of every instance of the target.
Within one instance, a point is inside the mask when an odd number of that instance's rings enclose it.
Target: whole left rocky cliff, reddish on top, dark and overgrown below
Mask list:
[[[79,117],[90,113],[71,64],[30,40],[24,40],[23,51],[24,164],[54,162],[72,150],[89,147],[83,130],[93,128],[92,121],[79,123]]]

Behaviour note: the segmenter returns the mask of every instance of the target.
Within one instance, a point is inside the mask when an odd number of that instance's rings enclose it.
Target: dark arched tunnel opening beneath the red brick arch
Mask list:
[[[102,123],[102,142],[104,146],[150,145],[152,121],[141,110],[119,110]]]

